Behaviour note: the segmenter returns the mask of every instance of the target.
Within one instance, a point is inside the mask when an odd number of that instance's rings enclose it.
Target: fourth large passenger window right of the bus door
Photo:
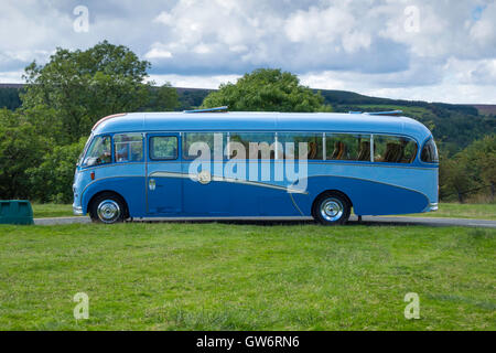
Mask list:
[[[370,135],[326,133],[327,160],[370,161]]]

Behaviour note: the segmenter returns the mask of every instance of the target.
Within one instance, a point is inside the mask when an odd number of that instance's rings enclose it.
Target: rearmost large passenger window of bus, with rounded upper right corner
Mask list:
[[[417,154],[417,143],[410,138],[374,135],[374,162],[411,163]]]

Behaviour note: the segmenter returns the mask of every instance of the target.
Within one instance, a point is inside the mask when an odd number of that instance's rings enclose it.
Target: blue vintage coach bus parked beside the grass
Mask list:
[[[203,141],[214,151],[215,136],[227,146],[222,158],[192,175],[197,154],[190,148]],[[229,151],[233,141],[276,142],[269,156],[248,153],[244,160],[269,168],[271,178],[226,174],[225,167],[239,158]],[[298,154],[284,148],[288,142],[298,142],[295,150],[308,143],[308,170],[296,181],[273,178],[278,165],[288,163],[285,154]],[[432,133],[407,117],[133,113],[106,117],[93,128],[75,172],[73,207],[75,214],[89,213],[103,223],[313,217],[332,225],[345,223],[352,210],[359,216],[434,211],[438,174]]]

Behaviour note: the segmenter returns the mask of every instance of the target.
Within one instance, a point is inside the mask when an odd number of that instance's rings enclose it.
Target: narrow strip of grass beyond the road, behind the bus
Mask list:
[[[73,216],[72,205],[60,204],[33,204],[35,218],[65,217]],[[457,218],[479,218],[496,221],[496,203],[493,204],[457,204],[441,203],[436,212],[422,213],[418,217],[457,217]]]

